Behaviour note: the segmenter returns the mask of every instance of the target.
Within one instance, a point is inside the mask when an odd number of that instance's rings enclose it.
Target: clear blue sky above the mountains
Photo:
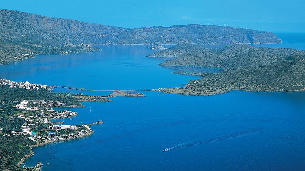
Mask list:
[[[1,0],[0,9],[125,28],[210,24],[305,32],[305,0]]]

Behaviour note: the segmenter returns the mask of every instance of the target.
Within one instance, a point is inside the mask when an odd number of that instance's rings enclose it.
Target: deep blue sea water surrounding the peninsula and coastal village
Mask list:
[[[291,35],[280,38],[289,47],[305,47]],[[145,45],[99,47],[99,52],[39,55],[12,62],[0,67],[0,78],[94,90],[183,86],[199,78],[172,72],[200,68],[158,66],[165,59],[145,57],[153,52]],[[231,91],[215,96],[141,92],[147,96],[67,108],[79,115],[60,120],[66,124],[100,119],[105,124],[92,126],[91,136],[33,148],[35,155],[26,165],[41,161],[45,171],[305,169],[305,91]]]

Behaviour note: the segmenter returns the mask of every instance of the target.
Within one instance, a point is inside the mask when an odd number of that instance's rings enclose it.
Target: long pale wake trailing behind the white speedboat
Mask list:
[[[172,149],[175,149],[175,148],[188,147],[188,146],[199,145],[199,144],[203,144],[203,143],[214,142],[214,141],[217,141],[217,140],[223,140],[223,139],[227,139],[227,138],[238,137],[240,135],[251,133],[251,132],[254,132],[254,131],[257,131],[257,130],[258,129],[255,128],[255,129],[242,131],[242,132],[236,132],[236,133],[233,133],[233,134],[228,134],[228,135],[225,135],[225,136],[212,138],[212,139],[208,139],[208,140],[205,140],[205,141],[199,141],[199,142],[198,141],[189,141],[189,142],[186,142],[186,143],[177,144],[173,147],[166,148],[163,151],[166,152],[166,151],[169,151],[169,150],[172,150]]]

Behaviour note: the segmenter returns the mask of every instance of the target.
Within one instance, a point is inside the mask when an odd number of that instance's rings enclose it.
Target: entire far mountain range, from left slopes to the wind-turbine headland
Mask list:
[[[211,25],[121,28],[72,19],[0,10],[0,64],[36,54],[99,50],[87,44],[264,44],[273,33]]]

